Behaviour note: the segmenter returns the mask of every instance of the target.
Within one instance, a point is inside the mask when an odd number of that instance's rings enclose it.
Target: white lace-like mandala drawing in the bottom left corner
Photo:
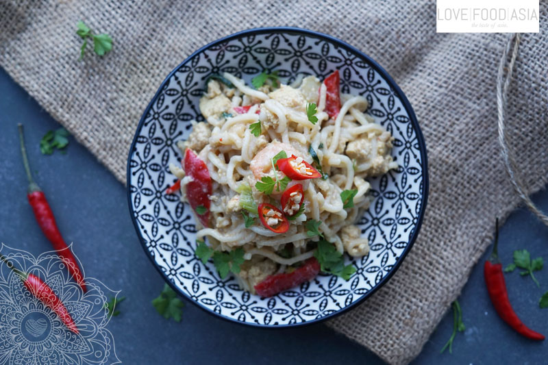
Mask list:
[[[70,249],[70,248],[69,248]],[[36,275],[62,301],[77,333],[23,284],[21,276],[0,262],[0,364],[116,364],[110,318],[105,303],[118,292],[85,277],[83,292],[55,251],[34,257],[2,244],[0,253],[13,267]],[[82,265],[80,265],[82,267]]]

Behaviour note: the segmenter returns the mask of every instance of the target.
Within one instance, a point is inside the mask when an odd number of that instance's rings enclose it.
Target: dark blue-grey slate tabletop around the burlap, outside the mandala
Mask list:
[[[0,111],[0,241],[34,255],[50,249],[25,198],[27,182],[16,131],[20,122],[25,125],[35,179],[46,192],[64,237],[74,242],[86,275],[127,297],[118,307],[121,314],[108,326],[124,363],[382,363],[371,351],[322,324],[255,329],[227,323],[190,304],[182,323],[164,320],[150,303],[163,281],[138,242],[125,187],[72,137],[66,155],[41,155],[40,138],[59,125],[1,69]],[[548,192],[534,198],[548,212]],[[548,228],[523,209],[516,210],[501,229],[499,253],[504,264],[511,262],[514,249],[528,249],[533,257],[548,259]],[[483,280],[487,256],[473,269],[459,299],[466,331],[456,336],[453,353],[439,353],[453,326],[452,313],[447,312],[414,363],[546,362],[547,342],[521,338],[494,312]],[[514,309],[524,322],[548,333],[548,309],[538,307],[538,299],[548,290],[548,268],[536,277],[540,288],[518,273],[506,275],[506,281]]]

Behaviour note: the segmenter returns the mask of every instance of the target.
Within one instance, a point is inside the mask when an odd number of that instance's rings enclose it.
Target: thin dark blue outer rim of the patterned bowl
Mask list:
[[[398,258],[397,262],[394,264],[392,270],[390,270],[390,273],[388,273],[388,275],[383,277],[382,280],[379,282],[379,284],[377,284],[375,287],[373,287],[371,290],[369,290],[369,292],[366,292],[366,294],[364,294],[364,296],[362,298],[358,299],[354,303],[351,303],[350,305],[347,305],[346,307],[344,307],[341,310],[333,312],[332,314],[327,314],[327,316],[323,316],[321,318],[315,318],[313,320],[307,320],[306,322],[293,323],[291,325],[260,325],[260,324],[256,324],[256,323],[241,322],[240,320],[236,320],[236,318],[231,318],[231,317],[223,316],[221,314],[217,314],[215,312],[212,312],[208,308],[203,307],[203,306],[199,305],[199,303],[196,303],[195,301],[193,301],[190,297],[188,297],[188,295],[185,292],[183,292],[182,290],[179,290],[179,288],[177,286],[175,286],[175,284],[173,284],[169,280],[169,278],[162,272],[162,269],[160,268],[160,266],[158,266],[156,264],[156,262],[154,260],[154,257],[150,254],[150,251],[147,250],[147,244],[146,244],[145,238],[143,238],[142,234],[140,234],[138,223],[137,223],[137,220],[135,218],[134,210],[133,210],[133,207],[132,207],[132,194],[131,194],[131,191],[129,190],[129,188],[127,188],[127,202],[128,202],[128,205],[129,205],[129,214],[132,217],[132,222],[134,224],[135,231],[137,232],[137,236],[140,239],[142,249],[145,250],[145,253],[147,254],[147,257],[149,257],[149,260],[151,260],[153,266],[156,268],[156,270],[158,270],[158,273],[160,273],[160,275],[162,275],[164,281],[166,281],[166,283],[169,286],[171,286],[171,288],[173,288],[173,290],[175,290],[175,292],[182,295],[182,297],[184,297],[185,299],[190,301],[192,304],[199,307],[201,310],[203,310],[203,311],[205,311],[209,314],[212,314],[213,316],[221,318],[223,320],[227,320],[229,322],[232,322],[232,323],[238,323],[239,325],[246,325],[246,326],[258,327],[258,328],[288,328],[288,327],[302,327],[302,326],[306,326],[306,325],[317,324],[317,323],[323,322],[324,320],[339,316],[340,314],[343,314],[343,313],[347,312],[348,310],[351,310],[353,307],[356,307],[357,305],[359,305],[360,303],[363,303],[366,299],[371,297],[371,295],[373,295],[377,290],[379,290],[379,288],[384,286],[384,284],[386,284],[386,282],[388,282],[388,280],[394,275],[394,273],[397,271],[397,269],[399,268],[399,266],[403,262],[403,259],[405,259],[405,257],[407,256],[407,254],[411,250],[411,248],[412,248],[412,246],[413,246],[413,244],[416,240],[416,237],[419,236],[419,231],[421,230],[421,225],[423,223],[423,218],[424,218],[424,214],[425,214],[425,210],[426,210],[426,204],[427,204],[427,201],[428,201],[428,190],[429,190],[428,162],[427,162],[426,144],[425,144],[424,136],[423,136],[423,133],[421,131],[421,127],[419,126],[419,122],[416,120],[414,110],[411,107],[411,104],[410,104],[409,100],[407,99],[406,95],[403,94],[403,91],[401,90],[401,88],[399,88],[399,86],[396,84],[396,81],[384,70],[384,68],[382,68],[382,66],[377,64],[377,62],[375,62],[375,60],[373,60],[371,57],[369,57],[369,55],[366,55],[362,51],[360,51],[360,50],[356,49],[355,47],[349,45],[347,42],[343,42],[342,40],[339,40],[338,38],[334,38],[332,36],[329,36],[327,34],[323,34],[323,33],[320,33],[320,32],[315,32],[315,31],[312,31],[310,29],[303,29],[303,28],[298,28],[298,27],[264,27],[264,28],[246,29],[246,30],[231,34],[229,36],[219,38],[218,40],[214,40],[213,42],[210,42],[208,45],[205,45],[205,46],[201,47],[200,49],[198,49],[197,51],[195,51],[191,55],[189,55],[186,58],[186,60],[181,62],[177,67],[173,68],[173,71],[171,71],[171,73],[169,73],[169,75],[167,75],[167,77],[164,79],[164,81],[162,81],[162,84],[160,84],[160,87],[158,88],[158,91],[155,93],[154,97],[151,99],[149,105],[147,105],[147,108],[145,109],[145,112],[143,112],[143,114],[140,118],[139,124],[137,125],[136,131],[140,131],[140,129],[142,129],[142,125],[143,125],[143,123],[145,123],[145,119],[147,117],[147,114],[149,113],[149,110],[150,110],[151,106],[156,101],[156,99],[158,99],[158,96],[160,95],[160,92],[164,89],[164,86],[169,81],[169,79],[171,79],[171,77],[177,72],[177,70],[179,70],[179,68],[181,68],[182,66],[184,66],[185,64],[190,62],[190,60],[192,60],[192,58],[194,58],[195,55],[205,51],[206,49],[208,49],[208,48],[210,48],[214,45],[219,45],[223,42],[227,42],[227,41],[232,40],[234,38],[241,38],[242,36],[251,36],[251,35],[256,35],[256,34],[276,33],[276,32],[278,32],[278,33],[283,32],[283,33],[288,33],[288,34],[301,34],[303,36],[311,36],[313,38],[329,40],[329,42],[334,43],[338,47],[341,47],[341,48],[343,48],[347,51],[351,51],[353,53],[356,53],[356,55],[359,55],[361,58],[366,60],[368,62],[368,64],[375,69],[375,71],[377,71],[380,75],[382,75],[382,77],[384,77],[384,79],[386,79],[386,81],[388,81],[388,84],[390,84],[390,86],[394,89],[394,92],[396,93],[396,95],[401,100],[401,103],[403,104],[403,108],[405,108],[406,112],[408,112],[409,117],[410,117],[410,121],[411,121],[411,123],[412,123],[412,125],[413,125],[413,127],[416,131],[416,139],[417,139],[417,142],[419,142],[419,150],[421,151],[421,160],[422,160],[422,165],[423,165],[423,171],[422,171],[422,173],[423,173],[423,195],[421,197],[421,212],[419,212],[418,220],[417,220],[417,223],[416,223],[416,228],[414,230],[413,236],[410,238],[410,240],[408,242],[408,245],[407,245],[406,249],[403,250],[403,253],[401,253],[401,256]],[[132,154],[133,154],[133,151],[134,151],[134,147],[135,147],[135,144],[136,144],[136,141],[137,141],[137,136],[138,136],[138,134],[136,133],[135,136],[134,136],[134,139],[132,141],[132,145],[131,145],[131,147],[129,147],[129,155],[128,155],[128,158],[127,158],[126,184],[127,184],[128,187],[129,187],[129,182],[130,182],[129,181],[129,179],[130,179],[130,166],[129,165],[130,165]]]

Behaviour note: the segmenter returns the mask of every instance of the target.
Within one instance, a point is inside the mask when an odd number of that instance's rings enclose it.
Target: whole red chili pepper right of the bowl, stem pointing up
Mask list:
[[[532,329],[527,328],[521,322],[516,312],[510,304],[508,299],[508,291],[506,290],[506,282],[504,281],[504,274],[502,271],[502,265],[499,262],[499,255],[497,247],[499,244],[499,219],[497,218],[497,230],[495,231],[495,243],[493,244],[493,253],[489,257],[489,260],[484,265],[485,284],[487,286],[487,292],[491,299],[491,303],[495,307],[495,310],[499,314],[499,317],[516,332],[522,336],[530,338],[532,340],[544,340],[544,336]]]

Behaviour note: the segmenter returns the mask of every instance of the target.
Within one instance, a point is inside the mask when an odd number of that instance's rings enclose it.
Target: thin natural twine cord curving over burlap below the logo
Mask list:
[[[506,133],[505,133],[505,126],[504,126],[504,109],[506,107],[506,103],[508,101],[508,86],[510,85],[510,81],[512,80],[512,73],[514,71],[514,63],[516,62],[516,58],[518,55],[518,48],[519,48],[519,42],[521,40],[521,34],[514,33],[508,38],[508,43],[506,44],[506,48],[504,49],[503,55],[501,57],[501,60],[499,62],[499,73],[497,75],[497,110],[499,112],[499,144],[501,147],[501,153],[502,157],[504,159],[504,164],[506,166],[506,171],[508,171],[508,175],[510,176],[510,181],[512,181],[512,185],[516,189],[516,192],[519,194],[519,197],[521,197],[521,200],[527,205],[527,207],[533,212],[540,221],[542,221],[545,225],[548,225],[548,216],[541,212],[538,207],[533,203],[529,195],[527,195],[526,187],[521,180],[521,174],[519,175],[519,167],[516,164],[516,160],[514,160],[514,153],[510,148],[508,147],[508,143],[506,141]],[[512,49],[512,57],[510,58],[510,64],[508,64],[508,72],[506,73],[506,77],[504,75],[504,69],[506,60],[508,59],[508,53],[510,52],[510,49],[512,48],[512,43],[514,44],[514,47]],[[516,171],[518,173],[516,173]]]

